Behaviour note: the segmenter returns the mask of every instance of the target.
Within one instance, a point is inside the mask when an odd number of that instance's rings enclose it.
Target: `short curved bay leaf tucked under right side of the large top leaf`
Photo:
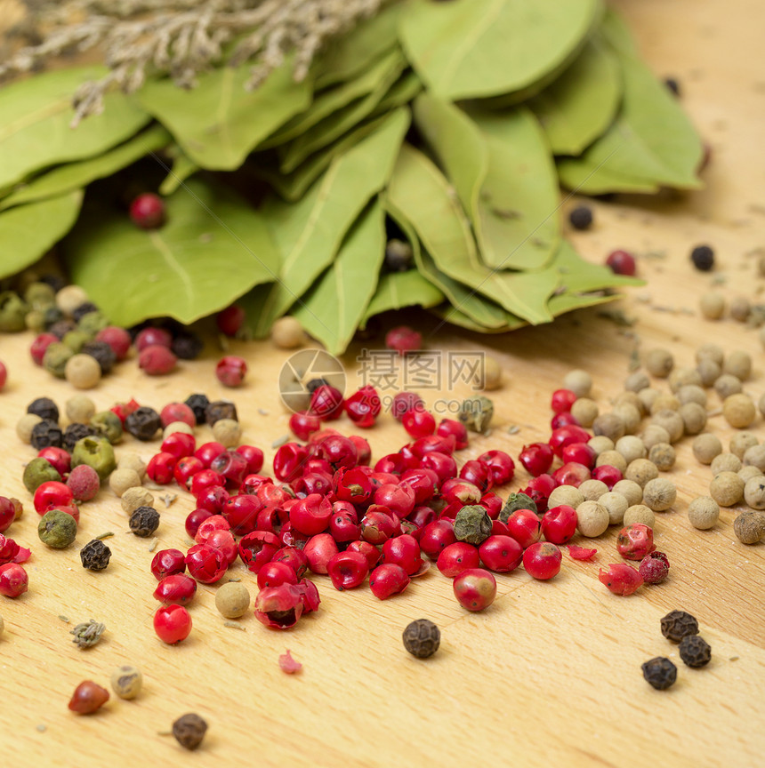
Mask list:
[[[622,98],[616,56],[592,36],[576,61],[527,104],[555,155],[579,155],[613,122]]]

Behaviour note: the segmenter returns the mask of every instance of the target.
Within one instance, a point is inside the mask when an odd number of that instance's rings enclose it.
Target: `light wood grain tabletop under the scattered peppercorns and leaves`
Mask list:
[[[697,312],[699,295],[713,287],[729,298],[758,302],[765,284],[757,270],[757,249],[765,245],[765,75],[755,66],[761,61],[761,4],[617,5],[656,73],[679,77],[683,103],[713,149],[708,186],[685,196],[597,202],[593,230],[572,235],[592,260],[617,247],[639,254],[647,284],[613,305],[635,319],[630,327],[594,308],[545,327],[480,338],[451,329],[434,332],[431,319],[408,317],[422,326],[431,350],[487,350],[502,361],[506,384],[495,396],[495,428],[488,437],[474,438],[461,460],[490,448],[517,457],[523,444],[546,439],[550,394],[572,368],[592,372],[594,396],[607,408],[623,388],[636,345],[643,351],[669,348],[678,365],[692,365],[695,348],[705,341],[744,349],[754,360],[745,391],[755,398],[765,392],[758,333],[728,317],[705,321]],[[695,272],[688,260],[690,249],[705,242],[717,252],[719,266],[711,275]],[[679,489],[677,503],[657,516],[656,540],[672,563],[671,577],[661,586],[621,598],[600,584],[599,566],[619,560],[611,529],[592,542],[599,549],[595,563],[578,563],[565,553],[551,582],[532,580],[522,569],[500,576],[495,604],[477,614],[456,604],[451,584],[433,568],[385,602],[367,588],[336,592],[326,577],[316,577],[321,608],[293,630],[271,631],[248,612],[239,631],[224,626],[216,612],[215,588],[200,585],[190,606],[192,633],[170,647],[152,630],[156,581],[149,572],[148,541],[128,532],[109,489],[82,506],[75,546],[52,551],[37,540],[38,518],[20,480],[34,452],[20,443],[15,423],[36,396],[52,396],[62,407],[73,390],[34,367],[30,340],[29,334],[0,339],[0,359],[9,369],[0,395],[0,492],[24,501],[27,511],[7,533],[34,553],[28,593],[0,598],[0,738],[8,764],[765,764],[765,543],[745,547],[733,535],[732,521],[743,507],[723,510],[711,531],[688,524],[688,501],[705,494],[711,479],[710,469],[693,459],[688,438],[677,446],[678,462],[668,473]],[[358,383],[360,351],[357,345],[343,358],[349,390]],[[233,396],[244,442],[265,450],[268,467],[271,444],[287,432],[276,382],[288,354],[268,343],[234,343],[231,352],[250,364],[246,386],[236,392],[214,378],[221,352],[211,339],[201,359],[182,364],[170,377],[148,379],[131,360],[91,394],[99,408],[132,396],[157,408],[193,391],[211,399]],[[666,388],[664,382],[655,386]],[[467,391],[461,385],[423,395],[433,404]],[[734,430],[719,407],[711,391],[709,429],[727,444]],[[349,422],[339,423],[350,432]],[[517,434],[510,434],[511,425],[519,427]],[[753,431],[765,439],[761,416]],[[375,457],[405,442],[389,415],[368,438]],[[199,428],[197,439],[209,439],[209,430]],[[148,458],[156,448],[128,438],[117,452]],[[520,468],[502,491],[526,482]],[[185,548],[189,495],[181,492],[164,507],[158,501],[158,548]],[[115,533],[108,541],[109,569],[86,572],[78,550],[106,531]],[[241,564],[229,575],[240,577],[254,596],[254,578]],[[661,635],[659,618],[673,608],[697,616],[713,648],[707,668],[686,668],[677,647]],[[424,662],[401,644],[403,628],[421,617],[436,621],[442,633],[439,653]],[[90,618],[103,621],[107,632],[101,644],[79,650],[68,631]],[[298,675],[278,668],[286,648],[303,664]],[[679,667],[678,682],[667,692],[654,691],[640,674],[640,664],[657,655]],[[145,676],[137,700],[112,697],[95,716],[68,711],[76,684],[90,678],[108,685],[112,670],[125,663],[139,666]],[[203,748],[185,753],[161,734],[192,711],[210,729]]]

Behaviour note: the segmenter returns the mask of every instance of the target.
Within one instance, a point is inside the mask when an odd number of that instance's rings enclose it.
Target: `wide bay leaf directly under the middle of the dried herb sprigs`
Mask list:
[[[312,98],[309,78],[294,81],[291,60],[248,92],[249,76],[247,67],[215,68],[200,75],[197,87],[190,90],[171,80],[156,80],[145,84],[138,97],[200,168],[233,171]]]

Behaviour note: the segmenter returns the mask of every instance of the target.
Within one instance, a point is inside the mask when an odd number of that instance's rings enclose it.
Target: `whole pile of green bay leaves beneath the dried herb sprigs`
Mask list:
[[[400,0],[301,83],[290,62],[254,92],[246,68],[156,79],[70,129],[101,74],[0,90],[0,277],[59,243],[117,324],[237,300],[255,336],[292,314],[339,353],[408,305],[484,332],[544,323],[629,282],[563,238],[561,186],[699,183],[697,134],[601,0]],[[150,232],[102,191],[140,188],[147,162],[168,212]],[[385,268],[391,232],[413,268]]]

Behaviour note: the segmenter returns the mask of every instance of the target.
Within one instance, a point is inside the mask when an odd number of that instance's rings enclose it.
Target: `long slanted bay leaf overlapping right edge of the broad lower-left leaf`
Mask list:
[[[334,158],[297,203],[271,198],[262,208],[281,254],[279,279],[247,297],[248,324],[262,337],[334,260],[350,226],[391,176],[410,115],[401,108],[371,135]]]

